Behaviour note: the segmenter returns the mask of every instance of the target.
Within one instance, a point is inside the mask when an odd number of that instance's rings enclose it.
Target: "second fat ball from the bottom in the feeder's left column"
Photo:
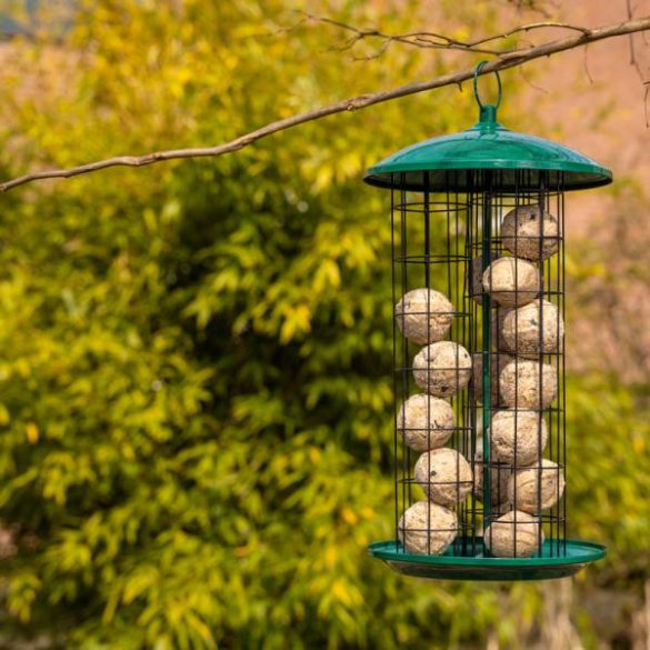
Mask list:
[[[416,481],[429,499],[440,506],[456,506],[471,491],[472,470],[456,449],[427,451],[416,463]]]

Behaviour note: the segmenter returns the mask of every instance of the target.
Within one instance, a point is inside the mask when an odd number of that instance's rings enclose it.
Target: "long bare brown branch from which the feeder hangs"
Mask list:
[[[586,29],[581,31],[579,34],[574,34],[564,39],[546,42],[524,50],[506,52],[497,57],[493,61],[487,63],[482,68],[481,73],[488,74],[490,72],[496,72],[498,70],[516,68],[529,61],[533,61],[534,59],[539,59],[541,57],[550,57],[551,54],[563,52],[566,50],[584,46],[587,43],[592,43],[594,41],[600,41],[613,37],[626,36],[647,30],[650,30],[650,17],[629,20],[617,24],[609,24],[606,27],[591,30]],[[284,131],[299,124],[304,124],[307,122],[319,120],[321,118],[326,118],[337,113],[360,110],[370,106],[382,103],[384,101],[391,101],[393,99],[399,99],[402,97],[408,97],[410,94],[416,94],[418,92],[423,92],[426,90],[433,90],[436,88],[442,88],[446,86],[460,84],[463,81],[472,79],[473,76],[474,76],[473,68],[469,68],[460,72],[443,74],[442,77],[437,77],[428,81],[408,83],[406,86],[400,86],[391,90],[361,94],[351,99],[339,101],[330,106],[308,111],[306,113],[297,114],[291,118],[271,122],[260,129],[251,131],[250,133],[240,136],[239,138],[236,138],[230,142],[224,142],[216,147],[174,149],[171,151],[158,151],[154,153],[146,153],[144,156],[120,156],[117,158],[109,158],[107,160],[99,160],[97,162],[89,162],[88,164],[81,164],[79,167],[73,167],[70,169],[54,169],[50,171],[28,173],[20,178],[0,183],[0,191],[6,192],[19,186],[23,186],[26,183],[37,180],[70,178],[74,176],[80,176],[82,173],[90,173],[93,171],[108,169],[110,167],[144,167],[147,164],[153,164],[156,162],[162,162],[167,160],[223,156],[224,153],[230,153],[232,151],[243,149],[244,147],[252,144],[257,140],[267,138],[272,133]]]

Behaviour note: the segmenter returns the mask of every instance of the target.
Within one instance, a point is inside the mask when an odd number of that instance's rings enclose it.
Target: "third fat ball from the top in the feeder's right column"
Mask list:
[[[533,300],[503,319],[502,334],[510,350],[524,358],[560,351],[564,321],[548,300]]]

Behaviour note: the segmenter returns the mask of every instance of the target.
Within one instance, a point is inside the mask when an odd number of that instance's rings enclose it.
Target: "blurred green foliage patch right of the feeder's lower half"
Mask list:
[[[648,549],[648,409],[642,396],[602,376],[573,381],[569,389],[571,512],[581,534],[608,541],[610,568],[620,569]]]

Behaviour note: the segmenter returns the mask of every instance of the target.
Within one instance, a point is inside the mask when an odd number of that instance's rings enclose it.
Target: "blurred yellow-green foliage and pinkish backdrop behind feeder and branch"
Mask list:
[[[467,39],[650,2],[3,0],[1,178],[218,144],[479,60],[348,49],[296,10]],[[502,74],[502,123],[614,172],[567,207],[569,536],[606,561],[486,586],[366,553],[393,526],[392,302],[388,196],[361,179],[471,126],[463,84],[2,196],[0,647],[648,650],[649,39],[636,64],[622,38]]]

